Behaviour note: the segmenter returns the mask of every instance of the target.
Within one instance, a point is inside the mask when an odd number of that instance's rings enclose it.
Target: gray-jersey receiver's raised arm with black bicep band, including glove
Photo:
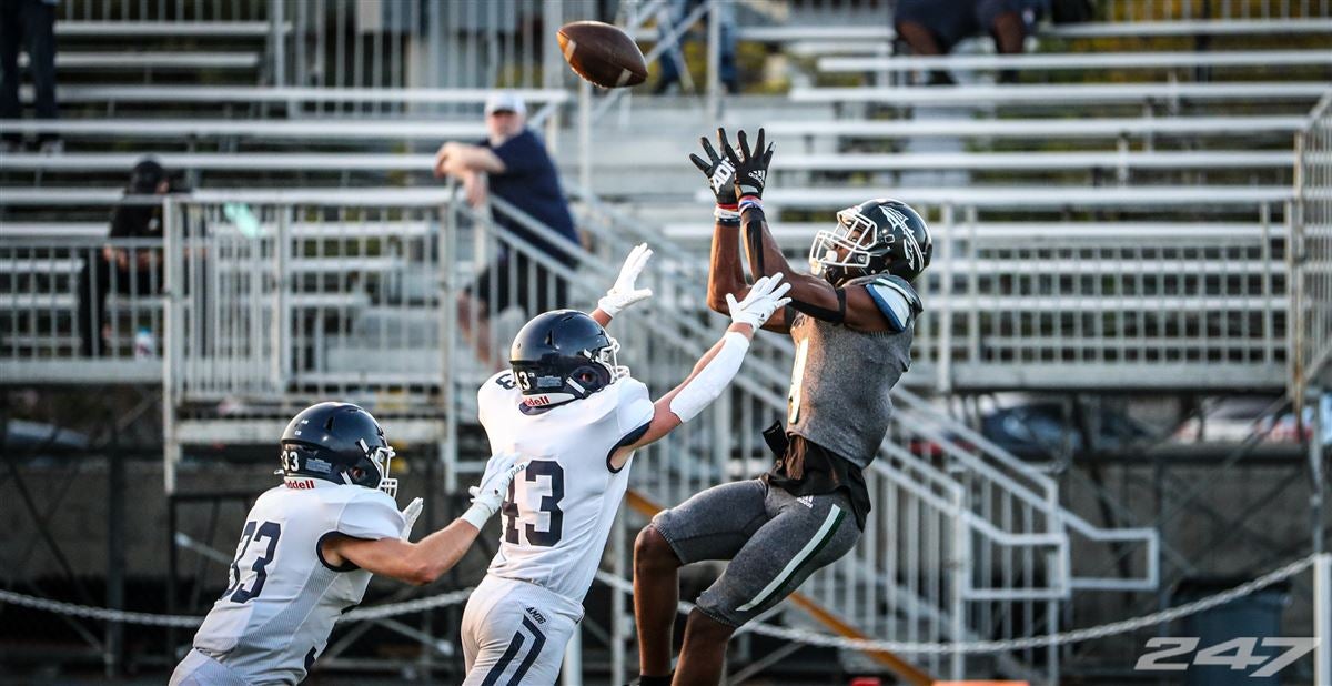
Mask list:
[[[763,145],[763,129],[758,129],[754,149],[750,149],[749,137],[743,131],[737,133],[739,151],[726,141],[725,132],[718,135],[722,152],[735,168],[735,196],[745,233],[745,252],[754,278],[782,274],[786,282],[791,284],[791,309],[810,317],[844,324],[856,330],[887,329],[887,320],[863,286],[834,288],[825,278],[795,272],[777,246],[777,240],[773,238],[767,218],[763,216],[763,188],[767,182],[769,164],[773,161],[773,145]]]

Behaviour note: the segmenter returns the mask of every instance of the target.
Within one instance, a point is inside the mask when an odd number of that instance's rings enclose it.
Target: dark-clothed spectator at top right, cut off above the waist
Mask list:
[[[1026,7],[1022,0],[898,0],[892,20],[898,36],[915,55],[944,55],[963,39],[990,33],[1002,55],[1022,52],[1027,37]],[[999,83],[1018,81],[1018,73],[1004,69]],[[930,72],[930,85],[956,85],[943,69]]]

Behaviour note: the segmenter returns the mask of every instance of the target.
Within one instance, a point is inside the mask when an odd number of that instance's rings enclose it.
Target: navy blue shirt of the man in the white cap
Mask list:
[[[574,232],[574,218],[565,202],[565,193],[559,189],[555,165],[550,161],[550,155],[546,153],[541,139],[531,129],[523,128],[521,133],[503,141],[498,148],[490,145],[489,140],[481,141],[481,147],[490,148],[505,167],[502,173],[490,174],[490,192],[531,214],[533,218],[550,226],[570,242],[577,244],[578,233]],[[498,210],[494,213],[494,218],[500,225],[537,248],[559,258],[566,257],[563,250],[537,237],[517,221],[501,216]]]

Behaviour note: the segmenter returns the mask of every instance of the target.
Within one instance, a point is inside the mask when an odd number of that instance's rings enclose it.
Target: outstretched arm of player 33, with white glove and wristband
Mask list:
[[[345,534],[326,537],[320,543],[320,555],[333,567],[348,566],[348,563],[365,569],[373,574],[393,577],[414,585],[426,585],[440,578],[441,574],[453,569],[472,547],[472,543],[481,533],[486,519],[500,510],[505,492],[514,474],[522,470],[526,464],[515,464],[517,454],[498,454],[486,464],[481,485],[473,486],[472,506],[449,526],[434,531],[420,542],[409,542],[412,523],[420,514],[418,501],[414,501],[404,512],[406,523],[402,527],[401,538],[380,538],[369,541]],[[414,512],[412,512],[414,509]],[[408,514],[412,512],[412,514]]]

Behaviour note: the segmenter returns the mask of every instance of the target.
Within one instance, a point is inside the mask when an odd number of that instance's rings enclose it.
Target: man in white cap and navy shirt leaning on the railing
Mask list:
[[[485,112],[489,137],[474,145],[444,144],[434,157],[436,176],[461,180],[473,206],[485,204],[490,192],[530,214],[558,237],[549,240],[498,210],[493,213],[505,230],[531,244],[549,260],[567,264],[567,248],[578,244],[578,233],[555,165],[541,139],[526,127],[526,105],[517,95],[501,91],[490,96]],[[557,245],[565,241],[563,246]],[[563,308],[567,292],[565,280],[541,260],[501,242],[498,258],[458,298],[464,330],[473,338],[481,361],[492,364],[492,316],[514,305],[522,306],[527,317]],[[472,330],[473,314],[476,330]]]

